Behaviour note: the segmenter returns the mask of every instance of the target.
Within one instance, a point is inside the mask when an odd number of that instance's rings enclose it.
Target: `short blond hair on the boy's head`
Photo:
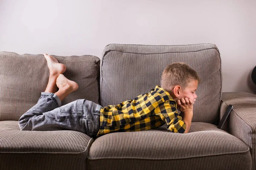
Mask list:
[[[161,87],[166,91],[172,91],[172,87],[175,85],[186,88],[192,80],[198,80],[198,84],[200,83],[200,77],[197,72],[183,62],[174,62],[171,65],[167,65],[163,71]]]

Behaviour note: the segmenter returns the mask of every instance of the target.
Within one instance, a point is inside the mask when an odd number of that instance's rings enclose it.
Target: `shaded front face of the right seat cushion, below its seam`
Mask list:
[[[170,153],[169,153],[170,154]],[[243,156],[244,155],[244,156]],[[91,170],[250,170],[247,153],[240,155],[216,155],[212,157],[195,157],[186,161],[176,160],[141,160],[141,159],[102,159],[89,161]],[[108,169],[106,169],[108,167]],[[233,169],[232,169],[233,168]]]

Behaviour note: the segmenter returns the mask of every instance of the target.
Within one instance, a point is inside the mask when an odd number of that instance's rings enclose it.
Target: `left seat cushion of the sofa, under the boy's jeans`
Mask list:
[[[85,170],[92,142],[77,131],[21,131],[1,121],[0,170]]]

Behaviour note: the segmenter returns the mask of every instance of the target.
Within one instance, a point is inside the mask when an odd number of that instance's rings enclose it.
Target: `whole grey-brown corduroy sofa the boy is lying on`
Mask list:
[[[222,93],[221,58],[213,44],[107,45],[95,56],[54,56],[79,89],[64,101],[88,99],[118,104],[160,85],[172,62],[185,62],[201,77],[190,132],[166,125],[93,139],[71,130],[21,131],[19,117],[47,85],[42,54],[0,52],[1,170],[250,170],[256,169],[256,95]],[[226,131],[217,128],[229,104]]]

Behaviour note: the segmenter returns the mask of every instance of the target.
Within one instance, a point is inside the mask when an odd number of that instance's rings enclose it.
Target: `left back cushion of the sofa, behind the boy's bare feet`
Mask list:
[[[52,56],[66,65],[64,76],[79,85],[78,90],[67,96],[62,105],[76,99],[100,102],[98,57]],[[47,86],[48,77],[49,70],[43,54],[0,52],[0,121],[18,120],[35,105]]]

